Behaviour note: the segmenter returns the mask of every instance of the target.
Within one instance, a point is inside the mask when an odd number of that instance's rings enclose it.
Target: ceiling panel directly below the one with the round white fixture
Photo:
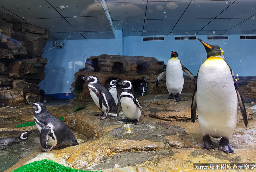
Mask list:
[[[77,31],[112,31],[108,18],[102,16],[94,17],[71,17],[66,18]]]

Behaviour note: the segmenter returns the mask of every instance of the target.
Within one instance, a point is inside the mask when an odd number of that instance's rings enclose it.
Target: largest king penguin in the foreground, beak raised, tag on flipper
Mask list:
[[[197,38],[198,39],[198,38]],[[214,149],[209,137],[221,137],[219,150],[234,153],[229,139],[236,128],[237,100],[241,108],[244,124],[247,115],[243,97],[237,85],[233,70],[226,63],[223,51],[217,45],[210,45],[198,39],[207,53],[207,59],[199,68],[197,84],[192,97],[191,119],[196,120],[203,134],[203,149]]]

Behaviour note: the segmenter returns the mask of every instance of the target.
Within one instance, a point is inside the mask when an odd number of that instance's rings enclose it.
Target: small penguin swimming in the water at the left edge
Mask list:
[[[0,138],[0,145],[6,145],[6,147],[4,147],[3,149],[0,150],[4,150],[7,149],[8,147],[14,145],[14,144],[18,144],[22,141],[28,140],[28,135],[31,134],[33,132],[33,130],[29,131],[29,132],[23,132],[20,134],[19,137],[7,137],[7,138]]]

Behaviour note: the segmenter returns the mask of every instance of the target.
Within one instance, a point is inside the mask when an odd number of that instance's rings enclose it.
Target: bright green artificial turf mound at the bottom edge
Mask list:
[[[60,165],[51,160],[34,161],[24,165],[13,172],[89,172]],[[102,172],[102,171],[100,171]]]

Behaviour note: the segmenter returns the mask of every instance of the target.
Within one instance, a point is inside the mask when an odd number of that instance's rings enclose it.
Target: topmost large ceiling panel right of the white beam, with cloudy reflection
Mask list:
[[[112,20],[145,19],[147,2],[107,3]]]

